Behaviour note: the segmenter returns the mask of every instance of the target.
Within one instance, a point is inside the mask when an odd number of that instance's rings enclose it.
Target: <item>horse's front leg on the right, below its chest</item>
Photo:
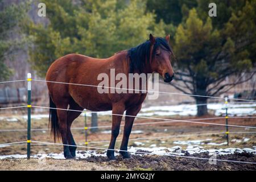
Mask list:
[[[131,134],[131,129],[133,127],[133,122],[135,119],[135,116],[139,113],[139,111],[141,110],[141,106],[136,106],[136,107],[132,107],[130,109],[126,110],[126,117],[125,117],[125,127],[123,129],[123,139],[122,139],[122,144],[120,147],[120,154],[123,156],[123,158],[130,158],[130,154],[129,152],[127,152],[127,146],[128,146],[128,140]],[[134,117],[129,117],[130,116],[134,116]]]

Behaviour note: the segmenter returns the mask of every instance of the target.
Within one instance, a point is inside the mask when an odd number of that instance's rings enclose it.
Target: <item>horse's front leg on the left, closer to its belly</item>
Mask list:
[[[111,150],[107,151],[107,156],[109,160],[115,159],[115,156],[114,156],[115,140],[119,135],[120,123],[121,123],[122,115],[124,111],[125,111],[124,105],[122,104],[113,105],[112,114],[117,114],[117,115],[112,115],[112,134],[111,134],[111,139],[109,144],[109,149]]]

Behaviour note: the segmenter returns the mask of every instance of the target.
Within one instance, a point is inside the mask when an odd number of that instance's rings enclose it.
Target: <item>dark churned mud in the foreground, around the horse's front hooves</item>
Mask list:
[[[207,153],[191,155],[197,158],[209,158]],[[241,162],[256,162],[256,156],[247,152],[241,154],[222,155],[217,156],[216,159],[222,160],[237,160]],[[157,170],[157,171],[233,171],[233,170],[256,170],[256,164],[234,163],[234,162],[220,162],[210,164],[209,160],[180,158],[175,156],[159,156],[159,155],[146,155],[138,156],[133,155],[131,159],[123,160],[118,156],[115,161],[108,161],[104,157],[90,157],[86,159],[93,163],[108,164],[108,166],[128,168],[131,170]]]

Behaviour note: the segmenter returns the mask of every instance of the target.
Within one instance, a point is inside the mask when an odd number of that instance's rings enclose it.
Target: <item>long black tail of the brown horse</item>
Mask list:
[[[60,138],[60,127],[59,127],[59,119],[57,116],[57,107],[52,101],[51,96],[49,96],[49,125],[51,124],[51,137],[53,136],[54,142],[56,142],[56,139]]]

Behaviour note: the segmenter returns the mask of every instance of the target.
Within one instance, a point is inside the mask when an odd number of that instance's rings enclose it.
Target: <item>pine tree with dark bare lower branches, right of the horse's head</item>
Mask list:
[[[210,17],[204,21],[196,9],[190,10],[177,27],[174,53],[179,72],[171,84],[186,94],[218,96],[249,80],[255,73],[255,5],[247,1],[240,11],[232,12],[228,22],[215,27]],[[243,72],[251,74],[242,79]],[[232,75],[236,81],[224,84]],[[196,104],[203,104],[197,106],[197,115],[207,114],[208,98],[194,98]]]

